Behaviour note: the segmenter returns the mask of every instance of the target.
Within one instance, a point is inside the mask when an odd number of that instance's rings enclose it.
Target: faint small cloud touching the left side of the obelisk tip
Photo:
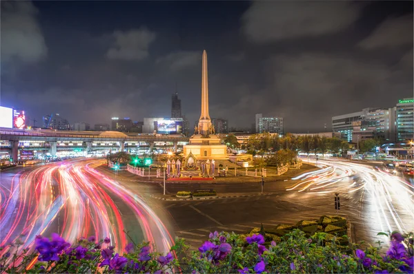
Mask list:
[[[201,52],[180,51],[172,52],[167,56],[157,59],[157,63],[169,67],[170,70],[184,70],[188,67],[199,65],[201,67]]]

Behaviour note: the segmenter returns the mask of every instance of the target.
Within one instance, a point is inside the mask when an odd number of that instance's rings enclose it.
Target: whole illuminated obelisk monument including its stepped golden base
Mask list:
[[[221,145],[220,138],[215,135],[214,126],[208,114],[208,74],[207,52],[203,52],[203,66],[201,72],[201,115],[198,127],[190,137],[190,145],[184,146],[184,155],[190,152],[199,160],[228,159],[226,145]]]

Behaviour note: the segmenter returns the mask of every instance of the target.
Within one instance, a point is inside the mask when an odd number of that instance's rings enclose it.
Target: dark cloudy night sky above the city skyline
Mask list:
[[[1,105],[70,123],[210,116],[285,131],[413,96],[413,1],[1,1]],[[37,123],[40,125],[40,122]]]

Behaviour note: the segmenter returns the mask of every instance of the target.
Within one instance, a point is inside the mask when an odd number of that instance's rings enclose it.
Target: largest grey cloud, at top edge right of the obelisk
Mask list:
[[[255,43],[331,34],[354,23],[361,8],[348,1],[255,1],[242,30]]]

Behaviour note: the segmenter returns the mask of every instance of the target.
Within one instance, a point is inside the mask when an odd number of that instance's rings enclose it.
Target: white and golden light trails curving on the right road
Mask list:
[[[398,176],[345,160],[311,160],[321,169],[293,178],[299,180],[287,187],[286,191],[297,191],[300,195],[358,195],[371,204],[372,209],[364,209],[362,215],[376,215],[378,229],[406,233],[414,226],[414,187]],[[352,180],[356,176],[356,180]],[[359,201],[361,202],[361,201]],[[355,207],[356,204],[350,205]]]

